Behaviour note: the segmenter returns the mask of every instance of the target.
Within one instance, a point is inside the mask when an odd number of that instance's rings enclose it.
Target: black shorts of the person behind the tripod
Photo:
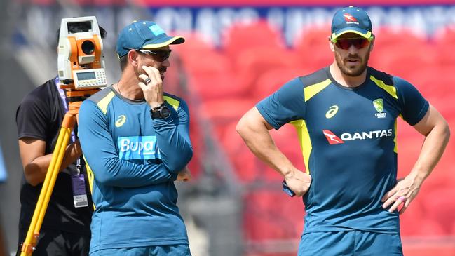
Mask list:
[[[20,249],[26,236],[27,229],[19,229],[19,246],[16,256],[20,255]],[[33,256],[86,256],[89,249],[90,235],[41,229]]]

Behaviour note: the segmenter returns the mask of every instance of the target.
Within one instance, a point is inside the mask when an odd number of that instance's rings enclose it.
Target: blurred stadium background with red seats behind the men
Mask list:
[[[61,18],[95,15],[107,30],[108,83],[120,77],[117,34],[133,20],[154,20],[186,36],[172,48],[165,88],[191,111],[195,179],[180,184],[179,206],[195,256],[295,255],[303,227],[301,198],[280,189],[282,178],[259,162],[236,134],[240,116],[290,79],[330,65],[327,36],[336,8],[365,8],[376,44],[369,64],[419,88],[455,127],[455,3],[449,0],[3,0],[0,8],[1,227],[17,243],[22,165],[15,109],[35,86],[56,75]],[[301,170],[297,135],[273,131],[278,147]],[[439,165],[400,217],[405,255],[455,255],[454,136]],[[399,177],[423,137],[398,123]],[[0,155],[1,159],[1,155]],[[4,170],[4,171],[2,171]]]

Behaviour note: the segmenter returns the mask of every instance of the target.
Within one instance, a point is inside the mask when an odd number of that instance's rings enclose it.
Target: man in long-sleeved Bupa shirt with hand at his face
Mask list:
[[[175,180],[188,180],[193,155],[189,110],[163,93],[170,44],[183,43],[150,21],[118,36],[121,79],[79,110],[79,138],[95,211],[90,255],[191,255]]]

